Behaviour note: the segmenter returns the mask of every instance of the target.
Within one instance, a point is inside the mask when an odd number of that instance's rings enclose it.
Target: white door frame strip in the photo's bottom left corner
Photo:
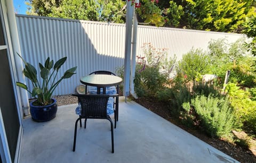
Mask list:
[[[8,142],[5,134],[1,108],[0,108],[0,154],[3,162],[6,162],[6,163],[12,162],[10,152],[9,152],[9,146],[8,146]]]

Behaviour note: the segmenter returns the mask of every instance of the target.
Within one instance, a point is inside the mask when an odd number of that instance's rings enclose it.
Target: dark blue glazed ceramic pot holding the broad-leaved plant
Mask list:
[[[52,101],[52,104],[46,106],[34,106],[35,100],[31,101],[29,106],[32,119],[36,122],[46,122],[55,118],[58,106],[56,99],[52,98]]]

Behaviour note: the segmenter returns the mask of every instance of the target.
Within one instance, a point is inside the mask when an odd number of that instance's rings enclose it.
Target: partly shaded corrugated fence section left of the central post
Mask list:
[[[54,95],[74,93],[79,79],[92,71],[115,72],[124,63],[125,25],[76,21],[39,16],[17,15],[17,26],[23,58],[32,65],[44,65],[49,56],[54,62],[67,56],[58,78],[77,66],[70,79],[63,80]],[[39,74],[38,74],[39,75]],[[28,87],[31,83],[27,81]]]

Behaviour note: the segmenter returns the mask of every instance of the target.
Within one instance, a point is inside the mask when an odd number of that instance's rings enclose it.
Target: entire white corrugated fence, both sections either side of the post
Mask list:
[[[55,90],[54,95],[74,93],[81,84],[81,76],[97,70],[115,72],[124,64],[125,24],[77,21],[45,18],[39,16],[16,15],[21,53],[32,65],[44,64],[49,56],[55,62],[67,56],[67,62],[60,68],[61,78],[68,68],[77,66],[70,79],[65,79]],[[211,39],[226,38],[234,42],[243,35],[156,28],[139,25],[137,36],[137,55],[143,55],[143,43],[151,42],[158,48],[167,48],[169,57],[182,55],[191,48],[207,50]],[[31,88],[30,82],[28,87]]]

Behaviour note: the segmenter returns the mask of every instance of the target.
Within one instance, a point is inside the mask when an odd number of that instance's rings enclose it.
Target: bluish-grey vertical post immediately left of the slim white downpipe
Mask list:
[[[125,54],[124,54],[124,96],[129,96],[131,72],[131,43],[132,43],[132,14],[131,1],[126,0],[126,25],[125,25]]]

